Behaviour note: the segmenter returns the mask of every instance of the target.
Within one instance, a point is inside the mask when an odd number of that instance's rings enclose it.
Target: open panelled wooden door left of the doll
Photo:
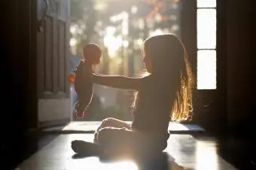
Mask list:
[[[39,127],[70,121],[69,0],[37,0]]]

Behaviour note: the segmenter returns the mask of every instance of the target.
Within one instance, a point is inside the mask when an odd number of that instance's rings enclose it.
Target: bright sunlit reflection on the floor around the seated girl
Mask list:
[[[74,152],[70,148],[72,140],[81,139],[92,141],[93,134],[60,135],[49,145],[33,154],[17,169],[33,170],[80,170],[80,169],[197,169],[197,170],[233,170],[235,169],[216,154],[216,142],[213,139],[194,139],[190,135],[172,135],[169,138],[166,153],[168,157],[137,165],[132,160],[104,163],[98,157],[74,159]]]

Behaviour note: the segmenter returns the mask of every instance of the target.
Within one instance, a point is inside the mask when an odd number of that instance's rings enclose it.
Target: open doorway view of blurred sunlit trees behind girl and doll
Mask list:
[[[82,46],[96,43],[102,49],[96,73],[139,76],[144,68],[141,46],[147,37],[165,32],[181,36],[178,0],[70,1],[70,72],[81,59]],[[93,100],[83,119],[76,118],[73,111],[76,94],[72,86],[71,93],[73,121],[101,121],[108,117],[132,120],[134,91],[94,85]]]

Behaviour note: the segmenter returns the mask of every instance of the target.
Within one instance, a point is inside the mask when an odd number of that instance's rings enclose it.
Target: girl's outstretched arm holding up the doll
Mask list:
[[[111,88],[122,88],[130,90],[139,90],[142,87],[144,78],[131,78],[127,76],[106,76],[92,73],[93,83],[105,85]]]

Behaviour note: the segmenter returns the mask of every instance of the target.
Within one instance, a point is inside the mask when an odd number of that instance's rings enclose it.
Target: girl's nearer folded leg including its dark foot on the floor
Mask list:
[[[148,157],[160,154],[166,146],[166,139],[156,135],[125,127],[105,127],[99,130],[98,142],[84,141],[72,142],[72,149],[76,153],[99,155],[106,153],[108,156]],[[111,155],[109,155],[111,154]],[[114,154],[114,155],[113,155]]]

